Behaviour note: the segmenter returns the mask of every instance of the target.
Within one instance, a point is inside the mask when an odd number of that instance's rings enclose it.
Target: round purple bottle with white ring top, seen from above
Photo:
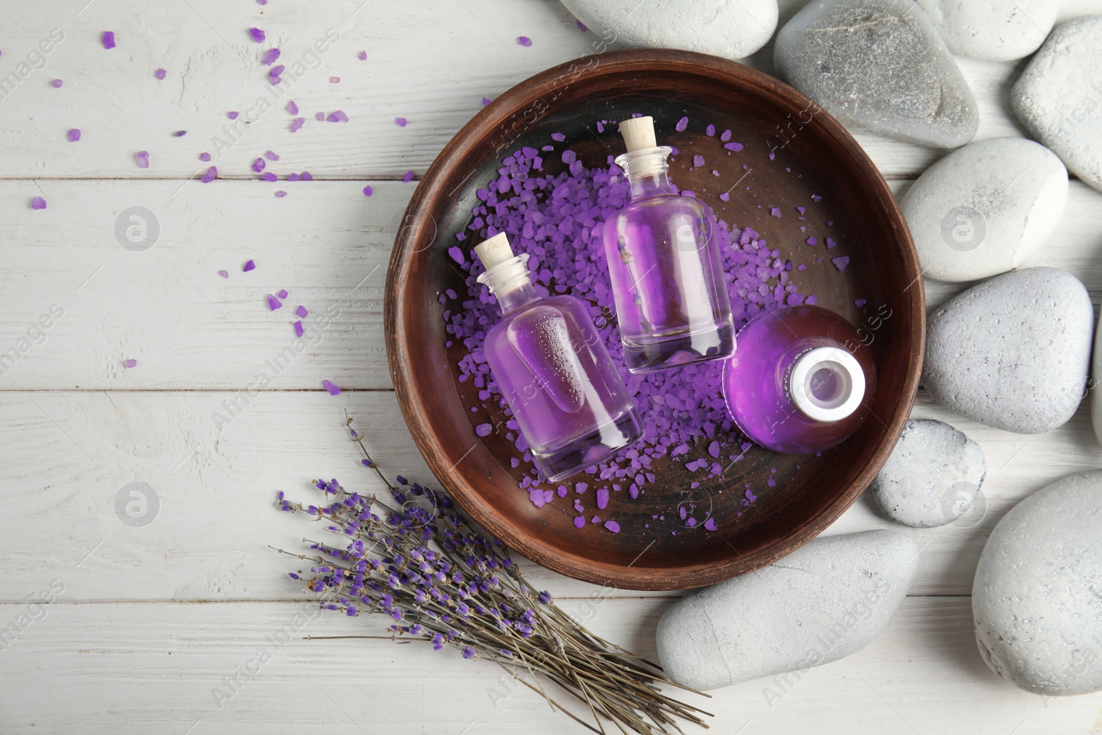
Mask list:
[[[750,440],[786,454],[821,452],[868,415],[876,367],[857,331],[821,306],[761,312],[738,331],[723,398]]]

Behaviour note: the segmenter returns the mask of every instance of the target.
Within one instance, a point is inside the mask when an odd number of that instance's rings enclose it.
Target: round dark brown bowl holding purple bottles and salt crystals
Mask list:
[[[444,347],[450,335],[437,294],[462,288],[463,274],[446,250],[472,221],[476,190],[497,177],[505,156],[521,145],[548,144],[551,132],[561,132],[566,141],[547,154],[549,162],[558,162],[558,151],[570,147],[587,166],[603,165],[606,149],[619,153],[624,147],[615,125],[598,132],[595,122],[635,111],[653,116],[659,141],[679,149],[671,165],[677,184],[695,191],[726,221],[760,231],[782,257],[808,266],[793,269],[790,278],[802,293],[815,294],[820,305],[862,327],[878,389],[872,418],[819,456],[777,455],[754,446],[711,480],[703,473],[690,478],[683,464],[663,457],[655,463],[657,482],[644,495],[631,500],[626,491],[613,494],[601,512],[620,525],[619,533],[611,533],[598,525],[574,528],[573,493],[536,508],[518,488],[526,466],[510,467],[510,457],[518,455],[511,443],[497,434],[475,434],[485,413],[471,412],[479,401],[456,380],[464,352],[458,344]],[[691,125],[678,132],[674,122],[682,116]],[[731,128],[732,140],[745,148],[727,153],[719,136],[704,134],[707,122]],[[694,152],[707,164],[689,170]],[[714,176],[713,169],[721,175]],[[719,194],[728,188],[731,201],[724,203]],[[821,202],[812,202],[813,193]],[[807,207],[803,221],[797,219],[797,205]],[[770,216],[773,206],[781,208],[780,218]],[[828,220],[833,221],[829,229]],[[838,242],[829,255],[822,244],[827,234]],[[820,245],[806,246],[809,235],[817,235]],[[464,247],[473,240],[477,237]],[[852,259],[844,273],[830,263],[842,255]],[[857,299],[866,300],[864,309],[855,306]],[[557,572],[633,590],[679,590],[744,574],[793,551],[841,516],[887,460],[910,412],[923,318],[910,234],[884,179],[850,133],[799,91],[765,74],[665,50],[613,52],[557,66],[476,115],[413,194],[386,293],[387,353],[402,413],[429,466],[463,510],[511,549]],[[576,479],[596,485],[590,476]],[[690,488],[690,479],[700,487]],[[753,502],[746,487],[756,497]],[[588,493],[585,506],[592,511]],[[717,529],[678,528],[678,508],[685,505],[699,508],[700,517],[709,509]],[[653,523],[655,514],[667,519]],[[653,523],[649,529],[648,522]]]

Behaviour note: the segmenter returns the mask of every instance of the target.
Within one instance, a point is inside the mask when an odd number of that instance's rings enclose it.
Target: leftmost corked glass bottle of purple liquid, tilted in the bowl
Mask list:
[[[528,255],[512,255],[504,233],[475,247],[504,318],[486,335],[486,361],[532,457],[551,482],[607,460],[642,436],[624,380],[585,305],[570,295],[541,299]]]

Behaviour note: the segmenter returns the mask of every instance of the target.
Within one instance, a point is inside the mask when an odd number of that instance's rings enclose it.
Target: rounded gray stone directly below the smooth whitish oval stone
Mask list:
[[[922,383],[943,406],[995,429],[1039,434],[1079,407],[1094,309],[1056,268],[1024,268],[972,287],[926,327]]]

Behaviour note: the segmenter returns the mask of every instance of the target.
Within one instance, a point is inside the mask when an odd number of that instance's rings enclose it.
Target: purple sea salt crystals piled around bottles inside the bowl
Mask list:
[[[564,139],[564,136],[552,134],[552,139],[559,138]],[[594,310],[592,313],[599,316],[612,304],[609,289],[601,278],[606,269],[601,234],[602,213],[622,208],[629,198],[628,186],[618,167],[585,169],[581,161],[569,155],[568,171],[554,176],[544,174],[539,160],[541,155],[543,153],[532,148],[517,150],[505,159],[504,167],[495,180],[478,190],[474,221],[467,231],[472,238],[506,231],[510,237],[532,241],[539,248],[537,251],[533,246],[528,247],[532,260],[538,261],[533,264],[538,289],[566,292],[586,300]],[[526,192],[538,196],[525,196]],[[555,192],[559,192],[558,196]],[[785,303],[796,291],[795,285],[787,281],[793,264],[781,260],[779,250],[769,248],[753,228],[739,229],[720,220],[716,236],[727,273],[726,285],[736,327],[764,309]],[[480,267],[471,261],[458,263],[458,267],[468,274],[468,285],[467,293],[460,293],[460,300],[465,301],[463,310],[452,310],[445,316],[449,342],[462,339],[469,350],[458,363],[461,383],[474,382],[479,389],[477,399],[482,406],[496,410],[500,392],[485,363],[476,361],[474,356],[482,354],[486,325],[495,323],[499,316],[496,305],[482,293],[480,287],[474,285],[474,277],[480,272]],[[614,358],[620,359],[623,347],[615,322],[607,323],[599,318],[597,326],[606,347]],[[586,472],[593,477],[599,475],[602,479],[614,482],[631,477],[636,482],[635,490],[628,487],[629,495],[638,493],[644,485],[655,482],[651,463],[668,456],[670,447],[694,445],[701,435],[711,436],[705,425],[713,428],[713,441],[720,442],[721,456],[730,454],[730,450],[724,450],[741,437],[733,433],[726,414],[720,392],[721,376],[720,364],[633,376],[627,382],[628,391],[637,402],[649,407],[644,417],[647,426],[645,439],[628,452],[629,457],[624,456]],[[730,433],[721,434],[716,429]],[[516,428],[510,429],[510,433],[515,431]],[[526,450],[527,445],[521,445],[518,456],[510,457],[510,464],[521,466],[518,457]],[[737,456],[737,451],[734,456]],[[530,457],[523,456],[522,461],[529,462]],[[630,469],[626,468],[628,464]],[[693,466],[698,466],[695,461]],[[703,460],[699,467],[709,472],[714,469]],[[534,477],[531,474],[525,477],[522,484],[527,493],[527,486],[534,485]],[[579,495],[585,489],[584,483],[575,485]],[[580,509],[575,508],[575,512],[581,516]]]

